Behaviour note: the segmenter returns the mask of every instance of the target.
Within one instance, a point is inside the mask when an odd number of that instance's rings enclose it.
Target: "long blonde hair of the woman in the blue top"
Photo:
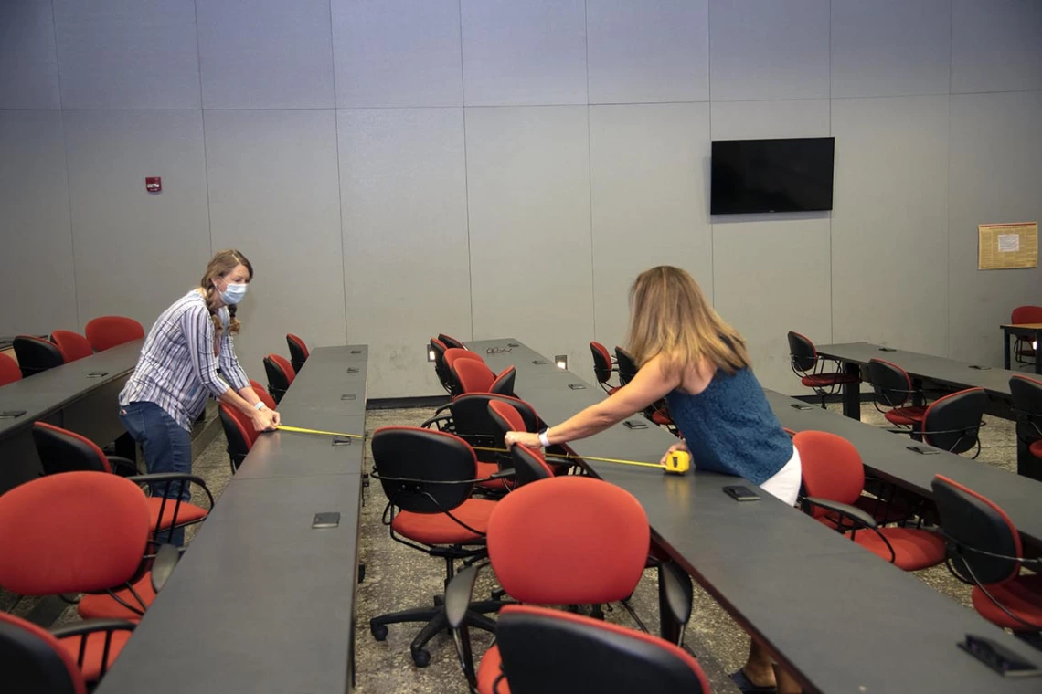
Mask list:
[[[705,301],[686,271],[660,265],[638,276],[629,289],[629,352],[638,366],[662,355],[669,369],[702,360],[726,374],[750,366],[745,340]]]

